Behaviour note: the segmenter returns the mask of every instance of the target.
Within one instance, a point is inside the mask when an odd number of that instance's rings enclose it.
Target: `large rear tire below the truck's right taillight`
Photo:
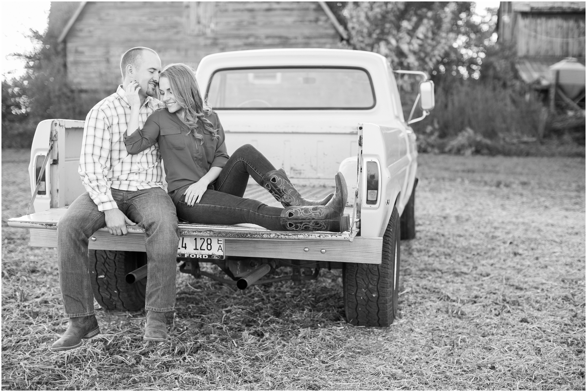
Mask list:
[[[343,263],[346,321],[352,325],[387,327],[397,314],[400,281],[400,217],[393,207],[383,234],[381,264]]]

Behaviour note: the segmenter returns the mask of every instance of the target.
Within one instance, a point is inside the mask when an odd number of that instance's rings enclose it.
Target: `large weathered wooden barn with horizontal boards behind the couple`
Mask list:
[[[49,15],[49,19],[52,16]],[[110,94],[120,58],[133,46],[157,50],[163,65],[194,67],[230,50],[337,48],[346,32],[325,2],[80,2],[60,32],[68,80]]]

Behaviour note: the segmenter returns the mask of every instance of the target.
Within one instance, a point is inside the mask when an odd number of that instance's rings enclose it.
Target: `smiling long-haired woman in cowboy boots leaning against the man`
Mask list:
[[[341,173],[335,176],[334,195],[306,200],[285,171],[275,170],[250,144],[228,156],[218,115],[202,100],[190,67],[171,64],[163,69],[159,92],[167,109],[151,114],[143,129],[138,129],[139,88],[136,82],[126,88],[131,106],[128,129],[135,131],[125,134],[124,143],[129,154],[158,143],[168,193],[176,204],[178,218],[200,224],[252,223],[274,231],[349,229],[349,217],[343,215],[347,190]],[[242,198],[249,175],[285,208]]]

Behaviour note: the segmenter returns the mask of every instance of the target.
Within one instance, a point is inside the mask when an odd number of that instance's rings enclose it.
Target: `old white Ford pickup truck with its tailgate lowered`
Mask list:
[[[394,72],[423,79],[407,120]],[[338,268],[347,321],[393,323],[400,239],[416,235],[417,149],[410,123],[434,107],[434,85],[426,74],[393,71],[376,53],[338,49],[216,53],[203,58],[195,74],[221,119],[229,154],[252,144],[283,167],[305,197],[328,194],[334,175],[342,172],[351,227],[346,232],[282,232],[251,224],[180,222],[180,271],[244,289],[315,279],[321,268]],[[422,114],[411,119],[417,105]],[[85,192],[77,174],[83,126],[84,121],[55,119],[36,128],[29,165],[31,205],[27,215],[8,221],[30,230],[30,246],[55,247],[59,218]],[[245,197],[271,198],[257,184],[249,188]],[[144,231],[127,229],[129,234],[119,237],[103,228],[89,241],[92,286],[105,309],[144,306]],[[200,268],[201,263],[213,263],[227,276],[217,276],[210,264]],[[280,276],[283,267],[291,274]]]

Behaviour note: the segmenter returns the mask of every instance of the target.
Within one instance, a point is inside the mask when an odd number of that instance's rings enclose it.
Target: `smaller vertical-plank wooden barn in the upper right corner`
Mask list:
[[[585,65],[585,2],[502,1],[498,40],[515,45],[525,82],[548,88],[549,66],[569,57]]]

